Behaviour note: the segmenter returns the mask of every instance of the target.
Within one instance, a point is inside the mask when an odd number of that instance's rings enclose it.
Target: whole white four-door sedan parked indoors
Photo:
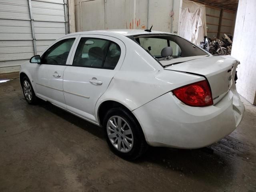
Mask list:
[[[202,148],[244,114],[239,62],[180,36],[102,30],[68,34],[20,68],[29,104],[38,98],[104,128],[110,149],[135,159],[147,146]]]

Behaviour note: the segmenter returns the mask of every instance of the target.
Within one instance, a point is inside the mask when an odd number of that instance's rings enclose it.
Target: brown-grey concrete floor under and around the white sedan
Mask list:
[[[26,103],[19,80],[0,83],[0,191],[256,191],[256,106],[204,150],[150,148],[128,162],[101,128],[51,104]]]

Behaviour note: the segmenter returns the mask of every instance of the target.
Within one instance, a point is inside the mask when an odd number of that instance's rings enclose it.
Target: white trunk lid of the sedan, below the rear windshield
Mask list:
[[[174,64],[164,69],[204,76],[210,84],[213,102],[216,104],[234,83],[237,65],[237,60],[231,56],[209,56]]]

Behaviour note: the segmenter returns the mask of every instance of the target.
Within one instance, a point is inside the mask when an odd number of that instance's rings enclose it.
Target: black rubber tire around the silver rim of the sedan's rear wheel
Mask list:
[[[128,123],[129,128],[132,130],[133,144],[129,152],[119,151],[116,147],[114,147],[114,144],[112,144],[110,138],[108,138],[107,124],[108,120],[110,120],[110,118],[112,118],[113,116],[119,116],[123,118]],[[124,158],[126,160],[135,160],[142,156],[144,152],[146,152],[148,144],[146,143],[142,128],[140,127],[140,124],[137,122],[134,116],[132,116],[129,110],[121,107],[108,110],[103,120],[103,128],[108,146],[110,147],[112,152],[114,152],[114,154],[120,156],[121,158]]]

